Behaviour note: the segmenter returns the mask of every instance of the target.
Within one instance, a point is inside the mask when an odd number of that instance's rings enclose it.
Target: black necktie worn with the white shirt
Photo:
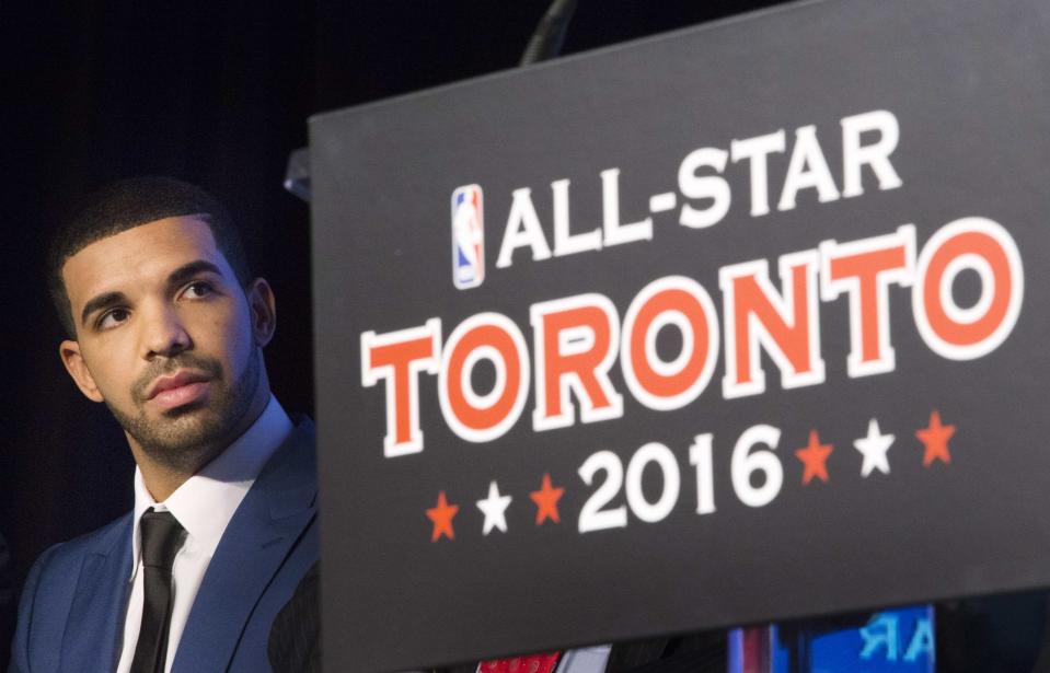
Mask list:
[[[139,529],[142,533],[142,585],[146,600],[131,673],[163,673],[173,603],[171,570],[182,545],[184,530],[171,512],[154,512],[152,508],[142,514]]]

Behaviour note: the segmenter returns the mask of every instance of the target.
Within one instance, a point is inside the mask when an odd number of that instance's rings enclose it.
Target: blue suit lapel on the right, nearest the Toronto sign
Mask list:
[[[315,514],[313,443],[313,425],[304,419],[233,514],[197,591],[172,673],[226,670],[256,603]]]

